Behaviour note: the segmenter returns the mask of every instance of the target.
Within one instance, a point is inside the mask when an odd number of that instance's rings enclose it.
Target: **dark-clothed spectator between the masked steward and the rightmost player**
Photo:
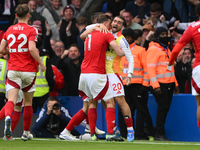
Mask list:
[[[184,48],[181,61],[176,63],[175,75],[179,84],[179,93],[191,93],[191,50]]]

